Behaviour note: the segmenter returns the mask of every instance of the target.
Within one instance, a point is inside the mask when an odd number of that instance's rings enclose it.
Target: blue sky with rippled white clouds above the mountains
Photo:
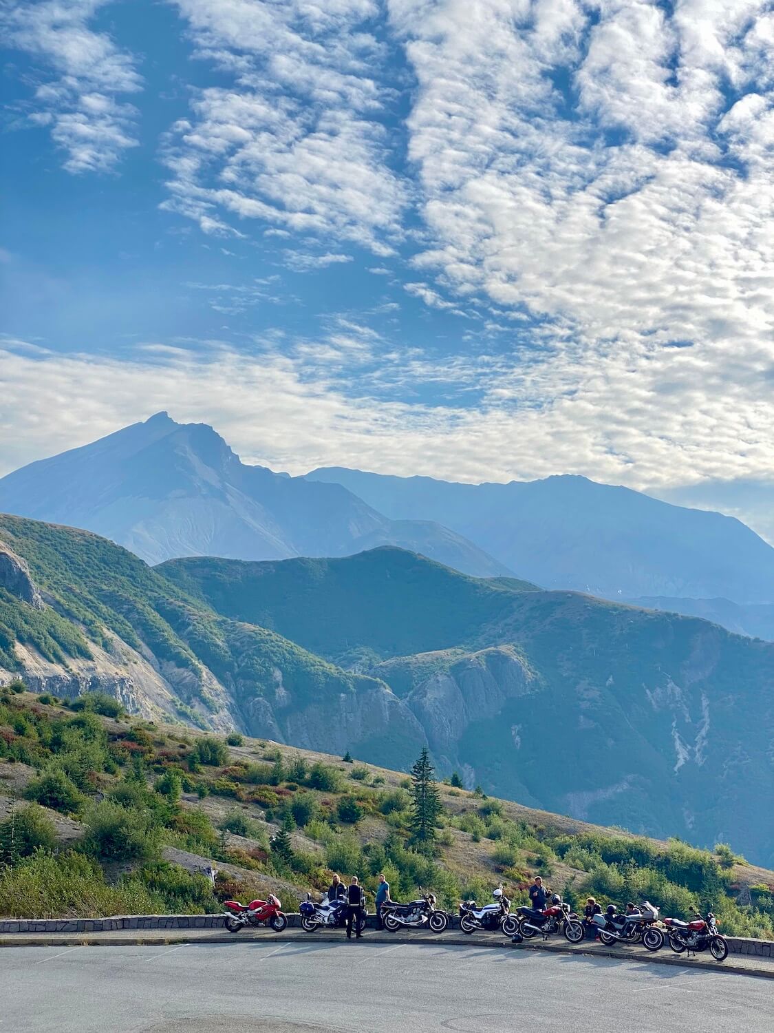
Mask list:
[[[0,474],[580,473],[774,539],[770,2],[0,0]]]

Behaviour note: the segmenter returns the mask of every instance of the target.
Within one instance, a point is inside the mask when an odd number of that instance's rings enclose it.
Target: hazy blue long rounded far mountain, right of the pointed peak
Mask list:
[[[340,483],[393,520],[440,520],[545,588],[774,602],[774,549],[753,531],[627,488],[577,476],[457,484],[342,467],[308,478]]]

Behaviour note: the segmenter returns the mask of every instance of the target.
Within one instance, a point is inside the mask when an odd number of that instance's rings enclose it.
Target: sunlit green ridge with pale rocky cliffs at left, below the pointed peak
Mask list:
[[[87,531],[0,515],[0,684],[103,690],[132,713],[409,763],[424,733],[384,682],[216,614]]]

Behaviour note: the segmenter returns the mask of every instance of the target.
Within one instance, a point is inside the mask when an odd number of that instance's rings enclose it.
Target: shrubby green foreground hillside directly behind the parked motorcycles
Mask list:
[[[372,895],[433,889],[444,906],[515,903],[531,876],[573,904],[646,897],[665,914],[711,907],[722,932],[774,935],[774,873],[438,784],[434,843],[413,843],[411,782],[360,760],[137,721],[109,697],[63,706],[0,689],[0,915],[219,910],[278,893],[293,910],[333,871]],[[11,825],[13,835],[11,837]],[[198,874],[219,869],[215,891]]]

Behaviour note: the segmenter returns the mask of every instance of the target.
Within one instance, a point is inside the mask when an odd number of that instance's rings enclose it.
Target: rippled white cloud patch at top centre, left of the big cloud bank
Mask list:
[[[259,219],[388,254],[401,182],[389,168],[381,49],[367,0],[178,0],[201,59],[233,80],[200,90],[168,136],[164,207],[219,227]]]

